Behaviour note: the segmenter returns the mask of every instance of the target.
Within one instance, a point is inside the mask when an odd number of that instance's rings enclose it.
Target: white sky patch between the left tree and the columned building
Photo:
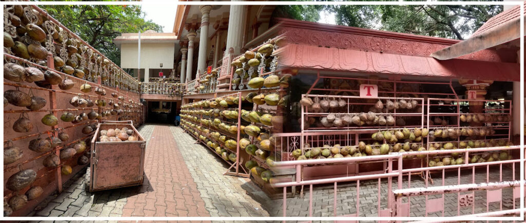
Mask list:
[[[143,0],[143,2],[155,2],[155,0]],[[146,20],[151,19],[154,23],[163,26],[163,33],[171,33],[174,30],[177,5],[144,4],[142,9],[146,14]]]

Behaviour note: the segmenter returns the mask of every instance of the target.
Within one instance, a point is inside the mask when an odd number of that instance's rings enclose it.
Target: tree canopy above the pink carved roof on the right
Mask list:
[[[502,5],[280,5],[275,15],[317,22],[322,10],[335,14],[337,25],[462,40]]]

